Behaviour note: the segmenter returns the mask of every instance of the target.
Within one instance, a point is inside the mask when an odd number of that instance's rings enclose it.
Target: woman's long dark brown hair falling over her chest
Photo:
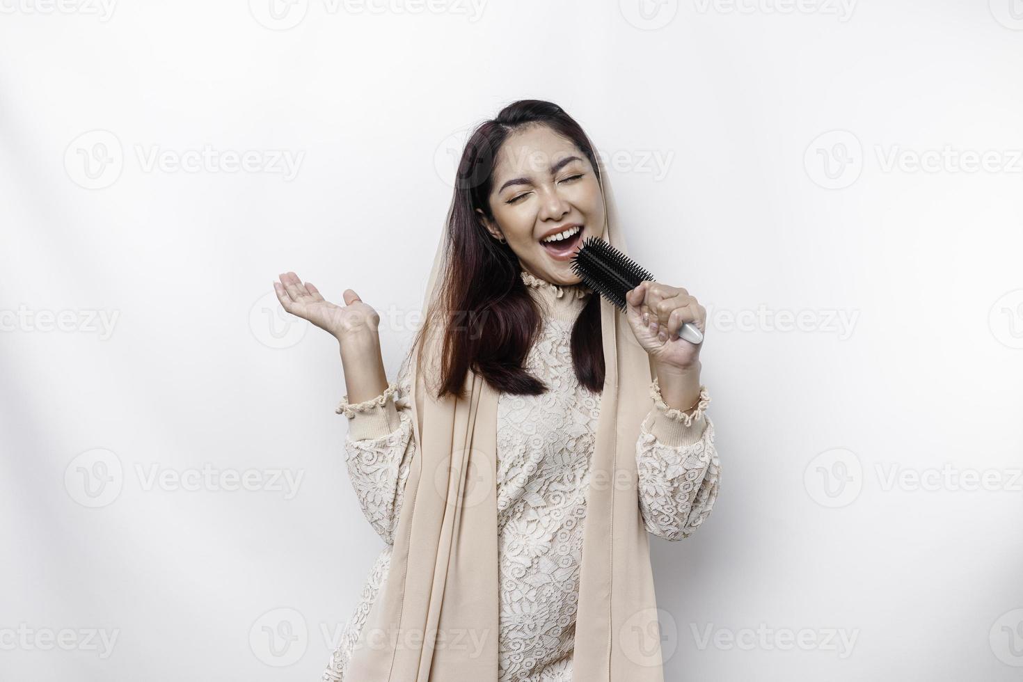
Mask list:
[[[586,133],[552,102],[522,99],[477,126],[458,162],[435,295],[411,347],[412,351],[418,349],[422,366],[424,339],[432,333],[442,335],[440,384],[431,389],[438,399],[462,398],[470,369],[499,393],[538,396],[547,391],[543,381],[523,367],[541,330],[541,311],[522,281],[515,253],[490,235],[476,212],[481,209],[493,220],[489,197],[497,153],[509,135],[536,125],[547,126],[574,142],[601,182],[599,166]],[[579,383],[601,393],[605,364],[601,298],[596,293],[590,294],[576,318],[571,348]]]

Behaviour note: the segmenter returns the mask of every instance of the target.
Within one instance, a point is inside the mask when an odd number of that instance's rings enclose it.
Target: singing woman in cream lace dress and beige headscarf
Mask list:
[[[677,335],[706,313],[644,281],[623,316],[573,272],[590,236],[625,251],[603,175],[550,102],[479,126],[394,383],[353,290],[274,282],[339,339],[348,470],[386,543],[324,681],[663,680],[647,534],[687,537],[717,496],[702,345]]]

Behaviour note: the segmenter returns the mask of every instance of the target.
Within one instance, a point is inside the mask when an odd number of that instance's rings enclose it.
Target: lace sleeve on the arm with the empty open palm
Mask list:
[[[409,377],[403,369],[398,381],[376,398],[349,405],[346,396],[337,410],[349,418],[345,459],[359,506],[389,545],[394,544],[405,481],[416,449],[409,397]]]

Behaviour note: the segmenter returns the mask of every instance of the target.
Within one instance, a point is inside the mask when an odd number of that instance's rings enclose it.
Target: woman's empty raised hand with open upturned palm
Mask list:
[[[303,284],[294,272],[280,275],[273,289],[285,311],[309,320],[339,342],[349,336],[380,333],[380,315],[352,289],[345,289],[345,305],[339,306],[324,299],[312,282]]]

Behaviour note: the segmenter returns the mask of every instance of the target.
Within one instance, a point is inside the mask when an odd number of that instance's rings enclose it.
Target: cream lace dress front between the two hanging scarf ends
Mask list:
[[[572,368],[572,325],[546,320],[526,368],[551,391],[501,395],[497,512],[501,682],[571,679],[589,459],[601,397]],[[559,678],[554,678],[559,679]]]

